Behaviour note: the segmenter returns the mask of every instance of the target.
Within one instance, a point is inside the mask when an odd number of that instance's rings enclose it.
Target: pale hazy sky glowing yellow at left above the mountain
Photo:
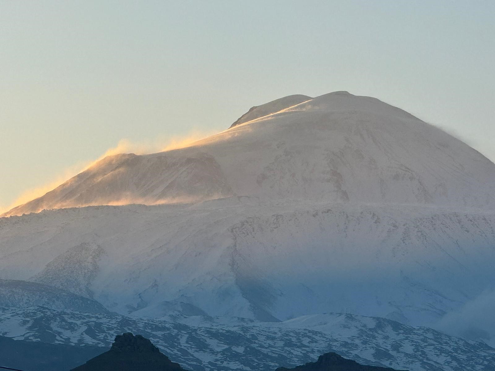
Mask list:
[[[495,160],[494,19],[493,0],[0,0],[0,209],[121,139],[158,150],[290,94],[375,96]]]

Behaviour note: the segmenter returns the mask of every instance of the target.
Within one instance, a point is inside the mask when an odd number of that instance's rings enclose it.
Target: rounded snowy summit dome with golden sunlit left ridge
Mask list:
[[[3,216],[232,196],[492,209],[495,165],[376,98],[290,95],[189,147],[106,157]]]

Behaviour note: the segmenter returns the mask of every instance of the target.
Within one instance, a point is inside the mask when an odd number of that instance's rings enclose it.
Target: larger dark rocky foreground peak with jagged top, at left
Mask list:
[[[130,332],[117,335],[108,352],[89,360],[71,371],[183,371],[151,341]]]

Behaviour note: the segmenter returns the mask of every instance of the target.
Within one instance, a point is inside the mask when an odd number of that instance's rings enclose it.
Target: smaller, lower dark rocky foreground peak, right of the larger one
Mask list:
[[[325,353],[318,357],[316,362],[308,362],[304,366],[294,369],[279,367],[275,371],[401,371],[386,367],[364,366],[356,361],[348,360],[337,353]]]

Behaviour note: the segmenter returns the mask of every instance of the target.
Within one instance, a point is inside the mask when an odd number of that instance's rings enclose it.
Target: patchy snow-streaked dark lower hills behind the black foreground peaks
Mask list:
[[[273,371],[336,352],[373,366],[410,371],[494,371],[495,349],[383,318],[322,314],[282,323],[181,317],[143,320],[47,308],[0,308],[0,335],[28,341],[101,346],[123,332],[149,338],[194,371]]]

